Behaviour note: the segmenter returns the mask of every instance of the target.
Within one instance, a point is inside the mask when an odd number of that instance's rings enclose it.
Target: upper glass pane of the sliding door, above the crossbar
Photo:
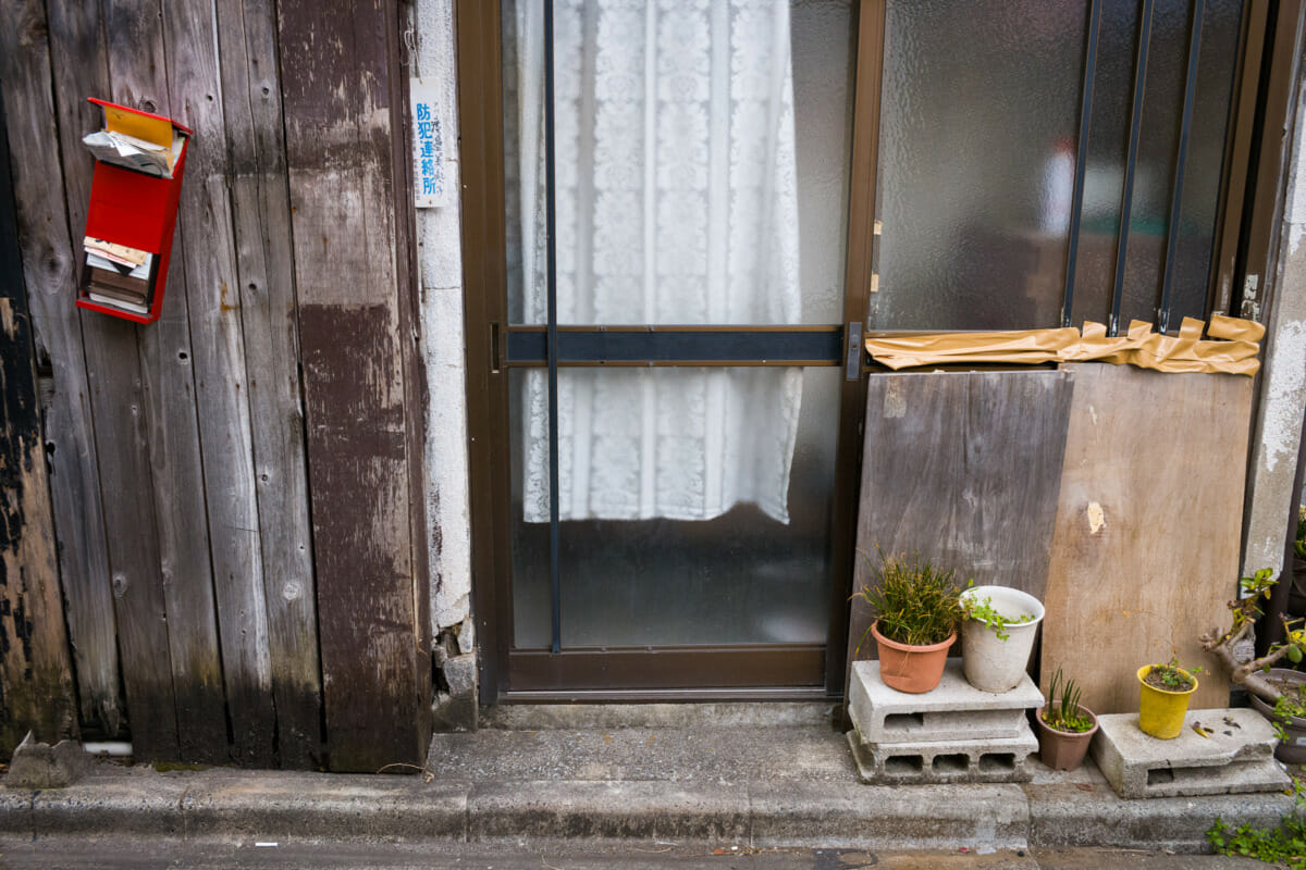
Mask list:
[[[560,323],[842,320],[852,7],[555,4]],[[503,3],[513,323],[545,320],[538,8]]]

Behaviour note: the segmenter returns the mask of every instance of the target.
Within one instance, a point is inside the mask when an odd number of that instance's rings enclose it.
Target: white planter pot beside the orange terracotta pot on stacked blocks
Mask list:
[[[1028,622],[1008,622],[1006,640],[981,620],[961,621],[961,656],[966,682],[983,691],[1011,691],[1020,685],[1034,648],[1034,635],[1043,620],[1043,605],[1033,595],[1006,586],[976,586],[961,593],[961,600],[991,599],[994,610],[1013,620],[1032,616]]]

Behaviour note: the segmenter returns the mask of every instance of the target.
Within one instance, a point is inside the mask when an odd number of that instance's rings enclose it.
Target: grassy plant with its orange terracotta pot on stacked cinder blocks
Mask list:
[[[919,553],[910,561],[906,556],[879,556],[880,563],[871,567],[872,583],[854,597],[876,614],[866,634],[875,638],[879,650],[880,678],[899,691],[930,691],[939,685],[948,647],[957,639],[961,590],[951,570],[940,571]]]

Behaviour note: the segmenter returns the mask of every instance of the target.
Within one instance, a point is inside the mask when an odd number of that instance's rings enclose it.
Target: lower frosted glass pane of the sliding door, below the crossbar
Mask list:
[[[639,374],[674,378],[696,370]],[[512,373],[515,646],[539,648],[550,643],[549,524],[526,522],[521,502],[526,377]],[[585,369],[559,372],[560,381],[588,377]],[[563,647],[825,642],[836,433],[831,420],[838,412],[840,370],[808,368],[801,378],[788,522],[741,502],[703,522],[560,523]],[[649,471],[656,476],[660,470]]]

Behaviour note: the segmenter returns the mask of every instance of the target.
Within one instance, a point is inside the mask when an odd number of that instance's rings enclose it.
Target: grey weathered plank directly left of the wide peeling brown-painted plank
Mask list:
[[[277,745],[283,766],[315,767],[317,608],[277,23],[255,0],[218,0],[217,16]]]

